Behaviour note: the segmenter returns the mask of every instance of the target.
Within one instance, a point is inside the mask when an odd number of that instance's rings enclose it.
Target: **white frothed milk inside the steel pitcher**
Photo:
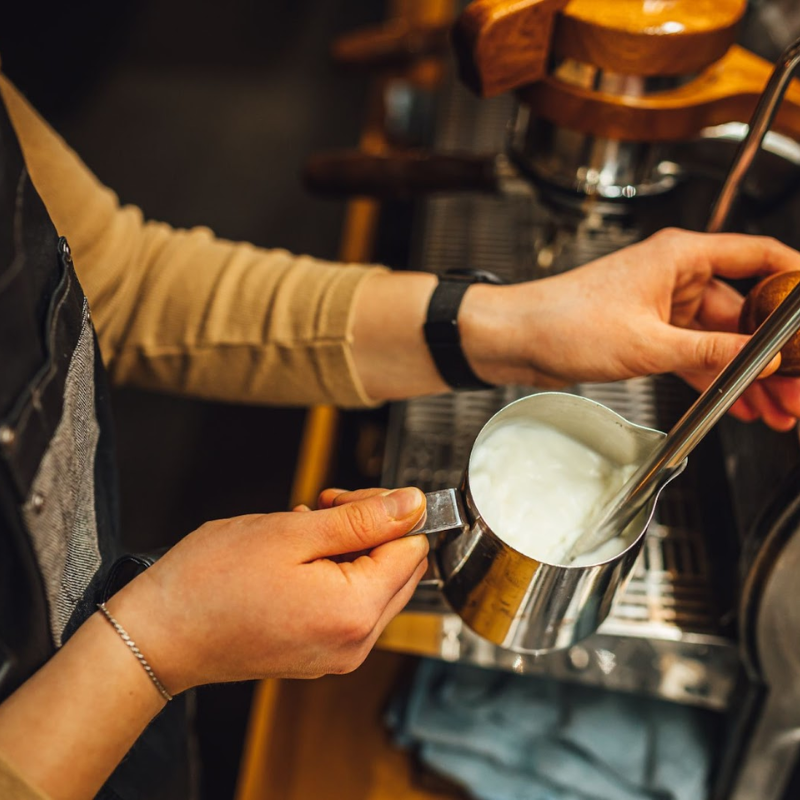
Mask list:
[[[629,544],[620,537],[568,559],[593,515],[633,474],[536,420],[499,425],[470,459],[472,496],[491,529],[515,550],[551,564],[591,564]]]

